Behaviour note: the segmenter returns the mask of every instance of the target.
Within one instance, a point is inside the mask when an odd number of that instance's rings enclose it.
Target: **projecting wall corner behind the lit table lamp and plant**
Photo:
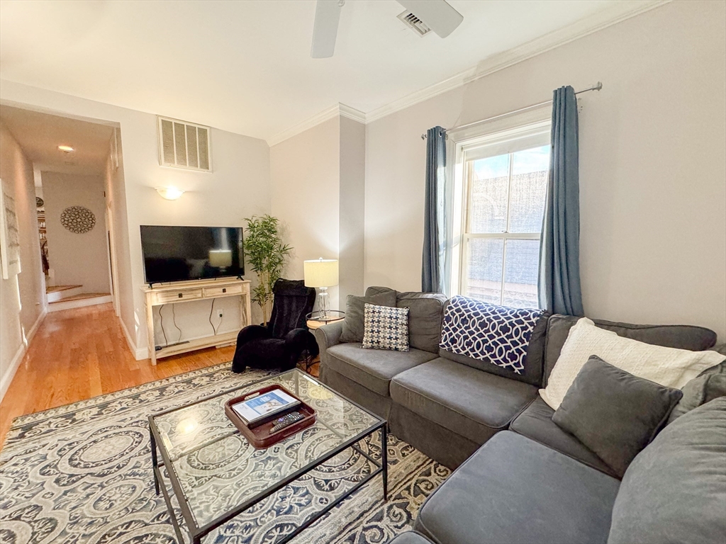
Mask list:
[[[365,125],[336,115],[270,148],[272,215],[294,251],[287,277],[303,278],[303,260],[338,259],[330,308],[362,294]]]

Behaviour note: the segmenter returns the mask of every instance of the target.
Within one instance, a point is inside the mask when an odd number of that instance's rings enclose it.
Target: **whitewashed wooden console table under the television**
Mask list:
[[[169,355],[202,350],[205,347],[229,344],[237,339],[237,334],[251,321],[250,281],[245,279],[217,279],[202,281],[176,281],[173,284],[142,287],[146,297],[146,328],[149,332],[149,354],[152,365],[156,360]],[[240,297],[240,329],[213,336],[189,340],[176,345],[155,349],[154,306],[180,304],[192,300],[208,300],[223,297]]]

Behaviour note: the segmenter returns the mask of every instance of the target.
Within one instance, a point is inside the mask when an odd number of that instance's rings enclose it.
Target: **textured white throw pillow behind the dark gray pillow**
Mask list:
[[[677,350],[619,337],[613,331],[595,326],[592,320],[581,318],[570,329],[547,380],[547,387],[539,390],[539,396],[551,408],[557,410],[560,407],[575,376],[590,355],[597,355],[640,378],[676,389],[724,360],[724,356],[715,351]]]

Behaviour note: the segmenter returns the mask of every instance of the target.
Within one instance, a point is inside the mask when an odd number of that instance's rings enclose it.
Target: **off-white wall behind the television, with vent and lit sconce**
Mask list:
[[[140,289],[144,284],[144,269],[139,226],[244,226],[245,217],[269,213],[269,147],[264,140],[213,128],[213,172],[163,168],[158,161],[155,115],[9,81],[1,82],[0,99],[8,105],[118,123],[123,145],[131,296],[134,300],[133,316],[125,316],[122,312],[121,318],[136,347],[136,357],[145,357],[147,334],[144,298]],[[162,199],[154,188],[168,185],[187,192],[176,201]],[[253,275],[248,273],[245,278],[253,279]],[[179,306],[176,308],[178,316],[179,311],[193,310],[191,306]],[[208,334],[209,323],[206,322],[205,326],[207,316],[195,319],[198,327],[184,330],[184,338]],[[133,321],[129,322],[129,318]],[[253,306],[253,320],[258,319],[261,319],[261,313]]]

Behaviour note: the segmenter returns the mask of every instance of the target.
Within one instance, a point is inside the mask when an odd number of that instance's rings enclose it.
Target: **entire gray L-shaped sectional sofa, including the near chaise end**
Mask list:
[[[409,353],[340,342],[340,322],[316,331],[323,382],[388,419],[397,437],[458,467],[425,500],[415,530],[390,544],[726,543],[726,397],[718,397],[725,363],[714,369],[717,398],[669,423],[621,480],[552,421],[537,394],[577,318],[540,319],[520,376],[440,350],[445,304],[437,294],[396,294],[396,305],[410,308]],[[696,326],[595,323],[667,347],[716,342]]]

